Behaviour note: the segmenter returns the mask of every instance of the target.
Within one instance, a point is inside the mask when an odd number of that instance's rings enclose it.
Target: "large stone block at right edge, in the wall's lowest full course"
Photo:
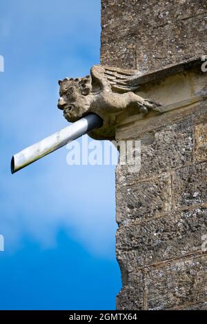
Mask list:
[[[148,310],[167,310],[207,298],[207,256],[180,260],[146,274]]]

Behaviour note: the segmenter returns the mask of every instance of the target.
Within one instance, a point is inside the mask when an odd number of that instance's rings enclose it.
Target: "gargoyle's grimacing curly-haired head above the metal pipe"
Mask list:
[[[59,81],[60,98],[58,108],[63,110],[67,121],[77,121],[90,107],[89,94],[92,90],[91,77],[63,79]]]

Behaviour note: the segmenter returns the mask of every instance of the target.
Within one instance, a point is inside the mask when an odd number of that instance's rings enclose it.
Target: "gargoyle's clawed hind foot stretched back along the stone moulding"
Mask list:
[[[130,92],[130,95],[132,97],[133,103],[135,103],[135,105],[138,105],[140,112],[142,112],[143,114],[148,114],[150,110],[154,110],[155,112],[161,112],[159,108],[161,107],[160,103],[157,103],[154,100],[144,99],[135,94],[134,92]]]

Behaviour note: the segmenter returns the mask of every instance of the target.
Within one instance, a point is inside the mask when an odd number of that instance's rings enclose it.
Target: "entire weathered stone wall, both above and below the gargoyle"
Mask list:
[[[206,0],[101,2],[102,64],[150,71],[207,54]],[[119,310],[207,310],[207,101],[192,97],[206,83],[185,72],[144,85],[177,108],[117,125],[117,141],[141,140],[141,170],[117,167]]]

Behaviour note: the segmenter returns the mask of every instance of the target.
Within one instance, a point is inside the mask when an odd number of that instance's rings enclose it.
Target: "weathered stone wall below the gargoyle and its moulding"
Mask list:
[[[207,310],[206,106],[125,127],[141,140],[141,170],[117,167],[119,310]]]

